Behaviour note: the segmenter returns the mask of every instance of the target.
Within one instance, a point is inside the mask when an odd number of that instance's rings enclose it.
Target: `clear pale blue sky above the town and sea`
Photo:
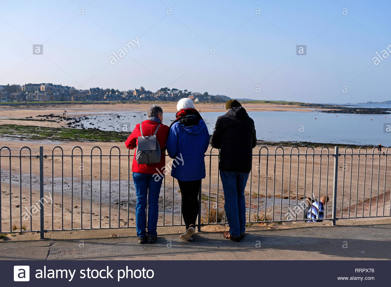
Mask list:
[[[0,0],[0,84],[391,100],[391,56],[372,61],[391,44],[390,10],[387,0]],[[140,48],[110,64],[111,51],[136,36]],[[32,55],[33,44],[43,44],[43,55]],[[307,45],[307,55],[296,55],[296,45]]]

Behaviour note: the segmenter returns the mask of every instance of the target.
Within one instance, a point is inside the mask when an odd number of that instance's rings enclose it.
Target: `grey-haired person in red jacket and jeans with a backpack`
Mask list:
[[[160,148],[160,162],[153,164],[138,164],[135,155],[132,162],[133,182],[136,188],[136,231],[138,243],[143,244],[153,243],[157,239],[156,226],[158,224],[158,201],[160,194],[160,187],[163,176],[156,176],[156,171],[164,173],[165,156],[164,150],[169,133],[169,127],[162,124],[163,109],[158,105],[151,105],[147,111],[148,119],[140,124],[137,124],[131,135],[127,138],[125,145],[127,148],[133,150],[138,146],[140,138],[148,137],[156,134],[158,144],[155,148]],[[141,125],[141,126],[140,126]],[[149,138],[151,139],[151,137]],[[142,139],[141,139],[142,141]],[[141,160],[139,160],[141,162]],[[146,208],[148,202],[148,231],[145,231],[147,226]]]

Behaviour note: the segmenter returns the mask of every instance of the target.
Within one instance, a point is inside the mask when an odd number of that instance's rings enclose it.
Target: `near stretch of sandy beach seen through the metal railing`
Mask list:
[[[0,146],[11,148],[12,155],[18,155],[19,149],[26,143],[0,142]],[[125,146],[118,144],[118,148],[112,148],[113,143],[62,143],[64,157],[61,157],[61,150],[52,149],[56,144],[30,142],[27,144],[32,149],[32,155],[38,154],[39,146],[44,147],[44,195],[51,201],[45,204],[45,227],[50,229],[69,228],[98,228],[134,226],[135,216],[135,189],[131,173],[131,160],[133,151],[128,156]],[[83,149],[83,163],[81,161],[81,151],[74,146]],[[91,157],[91,148],[99,146],[100,151],[95,148]],[[73,159],[69,157],[74,148]],[[111,149],[111,152],[110,152]],[[256,221],[257,214],[262,214],[264,210],[273,217],[274,220],[301,219],[303,215],[300,205],[305,197],[328,195],[332,198],[333,190],[333,157],[325,155],[327,151],[323,149],[322,156],[320,148],[315,149],[315,156],[308,152],[300,156],[282,156],[281,148],[274,157],[275,147],[269,146],[269,156],[266,156],[266,149],[260,146],[253,151],[253,171],[246,187],[246,205],[250,210],[248,215],[251,221]],[[287,154],[291,148],[284,148]],[[300,154],[305,154],[305,148],[299,148]],[[118,156],[120,152],[121,156]],[[353,151],[357,153],[357,150]],[[108,155],[110,155],[109,157]],[[294,151],[296,153],[296,151]],[[332,153],[332,151],[330,151]],[[218,178],[218,157],[217,150],[208,150],[205,158],[206,178],[202,184],[202,206],[203,223],[207,223],[207,210],[218,209],[222,212],[224,221],[224,194],[222,192],[221,181]],[[8,150],[3,150],[2,155],[8,155]],[[22,155],[29,155],[29,151],[22,150]],[[52,157],[52,155],[54,155]],[[385,157],[380,158],[380,168],[378,157],[372,162],[371,156],[365,164],[364,156],[354,157],[351,164],[351,156],[343,156],[339,161],[339,182],[337,194],[337,216],[339,217],[361,217],[368,216],[369,209],[371,215],[387,215],[390,212],[390,189],[391,183],[385,180]],[[120,158],[120,159],[119,159]],[[284,158],[284,160],[282,160]],[[2,226],[4,230],[9,229],[9,207],[12,208],[12,224],[20,226],[20,212],[29,213],[31,202],[39,201],[39,166],[38,159],[32,158],[31,165],[31,196],[30,196],[30,158],[11,157],[11,178],[9,173],[9,157],[2,157],[1,160],[1,191],[2,191]],[[266,163],[267,160],[267,163]],[[274,162],[275,160],[275,162]],[[167,157],[166,164],[170,159]],[[328,164],[329,161],[329,164]],[[260,163],[260,164],[259,164]],[[299,164],[299,169],[297,168]],[[387,162],[387,170],[390,170],[390,161]],[[92,166],[92,170],[91,170]],[[291,169],[289,167],[291,166]],[[282,169],[283,167],[283,169]],[[357,168],[359,175],[357,180]],[[274,175],[275,168],[275,175]],[[345,169],[345,172],[344,172]],[[365,171],[364,171],[365,169]],[[374,171],[371,177],[371,170]],[[377,173],[377,171],[380,171]],[[352,174],[350,174],[352,171]],[[365,184],[364,184],[364,176]],[[379,175],[379,176],[378,176]],[[351,177],[352,176],[352,177]],[[52,180],[53,178],[53,180]],[[73,180],[72,180],[73,178]],[[82,180],[83,178],[83,180]],[[259,180],[258,180],[259,178]],[[83,184],[82,184],[83,182]],[[385,185],[384,185],[385,184]],[[11,185],[11,199],[9,186]],[[267,186],[266,186],[267,185]],[[11,200],[11,204],[10,203]],[[210,201],[208,201],[210,200]],[[344,200],[344,201],[343,201]],[[181,195],[176,180],[173,183],[172,177],[165,176],[165,184],[162,186],[160,194],[160,219],[159,224],[179,225]],[[364,202],[364,204],[363,204]],[[129,213],[128,210],[129,203]],[[274,206],[274,215],[271,209]],[[297,207],[296,207],[297,206]],[[73,210],[72,210],[73,207]],[[295,208],[296,207],[296,208]],[[357,207],[357,212],[356,212]],[[257,213],[258,210],[258,213]],[[326,217],[331,216],[332,201],[326,206]],[[53,217],[52,217],[53,212]],[[129,220],[128,220],[129,215]],[[163,218],[164,216],[164,218]],[[296,217],[297,216],[297,217]],[[22,215],[23,217],[23,215]],[[81,217],[83,217],[83,222]],[[109,220],[109,218],[111,220]],[[92,220],[92,221],[91,221]],[[215,219],[212,219],[215,220]],[[269,219],[271,220],[271,219]],[[73,222],[73,223],[72,223]],[[72,223],[72,224],[71,224]],[[22,219],[22,225],[34,230],[39,226],[38,214],[27,219]]]

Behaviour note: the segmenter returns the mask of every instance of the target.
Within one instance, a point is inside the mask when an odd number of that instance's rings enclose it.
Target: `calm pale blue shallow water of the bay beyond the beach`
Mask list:
[[[145,112],[99,114],[82,120],[85,128],[133,131],[135,125],[147,119]],[[224,112],[202,112],[209,133],[213,133],[218,116]],[[391,125],[391,114],[332,114],[318,111],[248,112],[254,119],[257,139],[264,141],[308,141],[313,143],[391,146],[391,133],[384,132],[384,124]],[[163,123],[170,125],[175,113],[164,113]],[[91,124],[90,124],[91,123]],[[93,124],[93,125],[92,125]]]

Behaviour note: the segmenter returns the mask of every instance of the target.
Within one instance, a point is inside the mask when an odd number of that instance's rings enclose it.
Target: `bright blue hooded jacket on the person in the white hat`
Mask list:
[[[181,181],[205,178],[205,152],[209,146],[209,132],[202,119],[198,125],[176,122],[170,128],[166,147],[172,158],[171,176]],[[171,163],[168,164],[169,168]]]

